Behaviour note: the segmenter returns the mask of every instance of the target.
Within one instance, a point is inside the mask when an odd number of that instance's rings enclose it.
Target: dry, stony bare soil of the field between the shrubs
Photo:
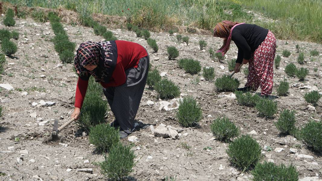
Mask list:
[[[0,18],[2,22],[2,18]],[[76,47],[84,41],[102,41],[100,36],[93,33],[92,28],[71,26],[64,24],[70,40],[76,42]],[[0,29],[7,28],[2,23]],[[108,27],[109,28],[109,27]],[[0,171],[4,173],[0,180],[104,180],[98,163],[104,159],[102,154],[95,152],[95,147],[89,143],[88,135],[80,130],[76,123],[72,123],[60,134],[64,137],[63,144],[49,145],[43,143],[51,134],[53,119],[60,118],[60,125],[69,119],[73,110],[77,75],[72,70],[72,64],[60,64],[59,56],[50,41],[54,34],[49,23],[38,23],[32,19],[16,19],[16,25],[10,30],[19,32],[18,59],[6,57],[5,75],[1,84],[10,84],[14,90],[1,89],[0,101],[3,106],[3,117],[0,120]],[[228,72],[227,60],[237,56],[237,48],[232,43],[223,62],[212,61],[209,57],[210,47],[217,50],[222,45],[222,40],[212,36],[189,34],[189,45],[178,44],[175,36],[168,33],[151,32],[151,37],[156,39],[159,51],[147,45],[147,41],[137,38],[134,32],[125,29],[111,29],[119,40],[134,41],[143,45],[150,55],[150,62],[156,66],[160,73],[166,72],[166,77],[174,81],[181,88],[181,93],[192,95],[202,107],[203,119],[197,128],[184,128],[178,140],[157,138],[151,134],[150,129],[140,129],[131,134],[139,141],[133,149],[137,155],[137,164],[129,180],[164,180],[166,176],[176,176],[177,180],[249,180],[251,173],[241,173],[232,167],[225,152],[226,143],[216,140],[211,131],[210,123],[218,116],[227,116],[241,130],[242,134],[252,133],[264,147],[270,146],[272,151],[263,150],[263,159],[273,159],[276,164],[293,164],[297,167],[299,178],[304,180],[319,180],[322,175],[321,155],[293,136],[281,136],[274,126],[279,113],[274,119],[264,119],[258,116],[255,108],[238,105],[231,93],[218,93],[213,82],[197,82],[196,77],[190,75],[177,66],[176,60],[168,60],[166,48],[175,46],[180,58],[193,58],[199,60],[202,66],[212,66],[216,70],[216,78]],[[198,41],[207,41],[206,51],[199,49]],[[288,43],[286,43],[288,42]],[[298,67],[295,45],[306,55],[303,67],[309,69],[309,74],[303,82],[306,89],[293,87],[301,83],[296,77],[287,77],[284,67],[293,62]],[[322,52],[322,45],[300,41],[277,41],[277,55],[284,49],[291,51],[289,58],[283,58],[279,69],[274,68],[274,88],[272,99],[278,103],[279,112],[283,109],[296,111],[297,126],[310,120],[322,118],[322,101],[318,102],[315,110],[308,109],[308,104],[303,96],[306,92],[316,89],[322,90],[322,56],[310,58],[310,50],[317,49]],[[224,69],[220,66],[224,66]],[[247,67],[247,66],[245,66]],[[314,72],[313,68],[318,71]],[[44,76],[42,76],[44,75]],[[241,81],[241,86],[246,83],[243,73],[234,75]],[[279,97],[276,88],[279,81],[286,79],[290,84],[289,95]],[[24,92],[27,92],[24,93]],[[257,91],[258,93],[260,90]],[[227,96],[225,96],[227,95]],[[33,102],[52,101],[53,106],[33,106]],[[155,104],[147,105],[147,101]],[[156,91],[146,89],[136,116],[137,121],[147,125],[160,123],[180,127],[176,121],[176,110],[159,110],[160,100]],[[36,118],[31,117],[36,113]],[[47,121],[47,122],[46,122]],[[113,113],[108,113],[108,122],[113,121]],[[254,132],[254,131],[255,132]],[[15,138],[20,138],[15,141]],[[127,139],[123,140],[130,144]],[[186,143],[189,147],[183,147]],[[282,148],[280,152],[276,148]],[[290,153],[290,148],[296,148],[297,153]],[[313,158],[301,158],[299,155],[310,155]],[[22,160],[20,161],[19,158]],[[88,160],[89,162],[87,162]],[[84,162],[85,161],[85,162]],[[80,172],[80,168],[91,168],[91,173]],[[321,180],[321,179],[320,179]]]

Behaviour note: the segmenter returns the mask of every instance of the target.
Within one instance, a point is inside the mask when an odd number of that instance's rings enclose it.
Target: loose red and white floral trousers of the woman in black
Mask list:
[[[276,51],[276,39],[268,31],[265,40],[251,55],[249,60],[249,74],[245,86],[252,86],[256,91],[261,88],[261,95],[269,95],[273,89],[273,63]]]

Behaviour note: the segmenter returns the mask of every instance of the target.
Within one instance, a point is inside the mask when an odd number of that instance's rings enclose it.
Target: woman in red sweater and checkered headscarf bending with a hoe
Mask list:
[[[103,86],[120,138],[134,130],[134,118],[147,82],[149,56],[141,45],[130,41],[85,42],[76,52],[74,65],[79,75],[75,109],[77,117],[87,91],[90,76]]]

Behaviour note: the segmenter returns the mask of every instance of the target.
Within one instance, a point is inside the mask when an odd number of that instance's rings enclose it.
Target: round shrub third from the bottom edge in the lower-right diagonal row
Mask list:
[[[227,117],[218,117],[210,125],[213,135],[220,141],[228,142],[239,135],[239,129]]]

